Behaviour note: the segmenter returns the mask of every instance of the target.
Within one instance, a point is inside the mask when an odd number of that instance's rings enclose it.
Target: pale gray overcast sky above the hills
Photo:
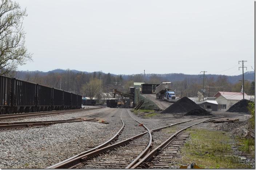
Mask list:
[[[17,2],[33,53],[19,70],[238,75],[239,60],[254,67],[254,0]]]

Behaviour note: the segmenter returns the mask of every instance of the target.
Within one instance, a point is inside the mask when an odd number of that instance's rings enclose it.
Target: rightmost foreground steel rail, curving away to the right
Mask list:
[[[229,117],[229,116],[221,116],[221,117]],[[218,117],[218,118],[221,118]],[[215,118],[215,117],[214,117]],[[186,128],[183,128],[179,131],[177,131],[175,134],[173,134],[171,137],[169,137],[168,139],[166,139],[163,143],[161,143],[159,146],[157,146],[155,149],[153,149],[150,153],[148,153],[147,155],[145,155],[145,157],[143,157],[139,162],[137,162],[134,166],[130,167],[131,169],[135,169],[137,167],[139,167],[142,163],[147,162],[150,158],[152,158],[155,154],[157,154],[159,151],[163,150],[166,146],[169,145],[169,143],[171,143],[173,141],[173,139],[175,139],[178,135],[180,135],[184,130],[195,126],[197,124],[200,124],[202,122],[214,119],[214,118],[209,118],[207,120],[201,121],[199,123],[187,126]],[[173,125],[172,125],[173,126]]]

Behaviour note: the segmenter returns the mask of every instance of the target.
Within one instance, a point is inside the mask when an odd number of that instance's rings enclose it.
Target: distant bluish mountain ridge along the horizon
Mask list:
[[[24,79],[27,74],[30,74],[31,76],[46,76],[48,74],[52,74],[52,73],[65,73],[65,72],[73,72],[73,73],[85,73],[85,74],[89,74],[89,73],[94,73],[94,72],[86,72],[86,71],[79,71],[79,70],[64,70],[64,69],[55,69],[55,70],[51,70],[48,72],[42,72],[42,71],[17,71],[17,78],[20,79]],[[108,74],[108,73],[103,73],[103,72],[99,72],[97,71],[96,73],[101,73],[101,74]],[[116,76],[117,74],[112,74],[110,73],[112,76]],[[122,77],[127,80],[130,76],[132,75],[136,75],[136,74],[122,74]],[[149,80],[149,78],[151,76],[157,76],[157,77],[161,77],[161,78],[165,78],[165,80],[171,81],[171,82],[175,82],[175,81],[183,81],[185,78],[199,78],[202,74],[183,74],[183,73],[168,73],[168,74],[145,74],[145,80]],[[207,76],[207,78],[217,78],[219,77],[221,74],[205,74]],[[225,76],[225,75],[222,75]],[[232,84],[237,83],[239,80],[241,80],[243,78],[243,74],[237,75],[237,76],[227,76],[228,77],[228,81],[231,82]],[[244,79],[245,80],[249,80],[249,81],[254,81],[255,80],[255,72],[251,71],[251,72],[245,72],[244,73]]]

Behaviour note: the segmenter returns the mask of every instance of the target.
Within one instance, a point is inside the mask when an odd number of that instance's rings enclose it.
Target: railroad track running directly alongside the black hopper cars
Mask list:
[[[14,119],[14,118],[23,118],[23,117],[33,117],[33,116],[46,116],[49,114],[67,114],[73,112],[83,112],[85,110],[95,110],[101,109],[99,108],[88,108],[88,109],[71,109],[71,110],[56,110],[56,111],[48,111],[48,112],[32,112],[32,113],[17,113],[17,114],[1,114],[0,120]]]

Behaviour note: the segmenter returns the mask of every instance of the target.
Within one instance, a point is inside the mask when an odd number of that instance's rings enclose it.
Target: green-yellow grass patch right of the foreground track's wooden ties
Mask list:
[[[250,168],[241,159],[232,155],[232,139],[223,131],[188,129],[191,139],[181,149],[184,165],[195,163],[203,168],[241,169]]]

